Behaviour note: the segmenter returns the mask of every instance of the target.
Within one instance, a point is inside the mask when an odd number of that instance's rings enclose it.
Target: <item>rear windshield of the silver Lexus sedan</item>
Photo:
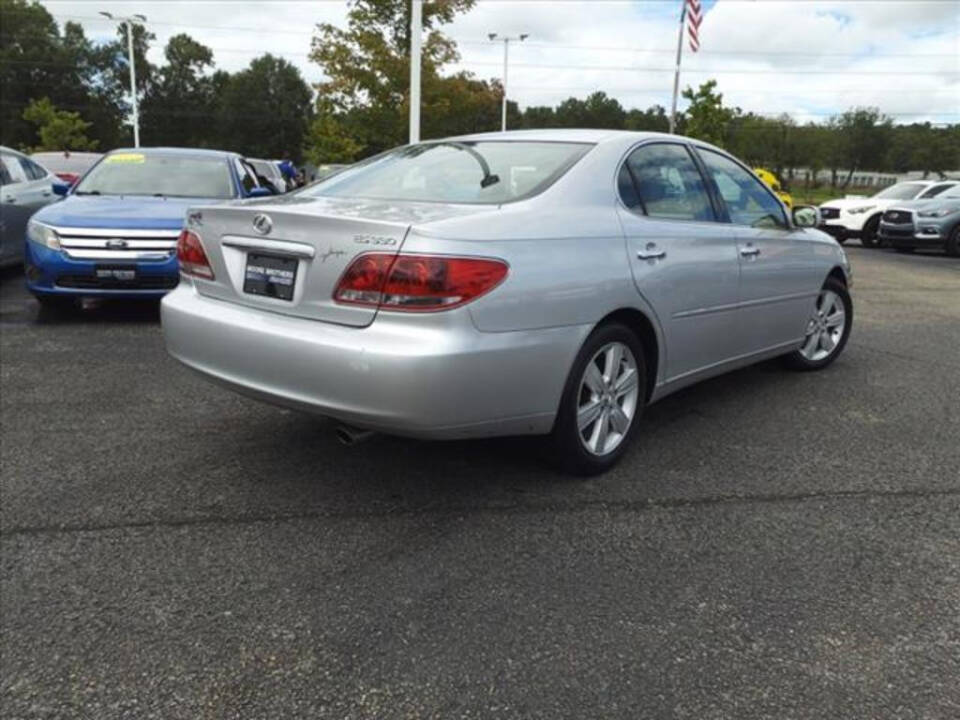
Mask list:
[[[591,147],[561,142],[423,143],[345,168],[304,194],[495,205],[543,191]]]

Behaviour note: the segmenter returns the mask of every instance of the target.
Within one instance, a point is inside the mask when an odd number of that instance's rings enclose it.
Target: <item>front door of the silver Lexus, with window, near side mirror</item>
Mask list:
[[[794,228],[783,204],[728,155],[698,147],[708,182],[736,230],[740,261],[737,325],[744,352],[789,345],[803,337],[822,277],[813,244]]]

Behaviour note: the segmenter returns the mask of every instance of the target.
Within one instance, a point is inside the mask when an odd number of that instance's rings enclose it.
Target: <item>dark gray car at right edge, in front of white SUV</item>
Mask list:
[[[898,252],[931,248],[960,256],[960,184],[930,200],[891,207],[880,219],[879,234]]]

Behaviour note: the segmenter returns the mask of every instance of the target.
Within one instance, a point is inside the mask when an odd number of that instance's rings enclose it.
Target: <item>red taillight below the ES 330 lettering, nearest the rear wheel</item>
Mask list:
[[[388,310],[447,310],[489,292],[506,276],[501,260],[369,253],[350,264],[333,297]]]

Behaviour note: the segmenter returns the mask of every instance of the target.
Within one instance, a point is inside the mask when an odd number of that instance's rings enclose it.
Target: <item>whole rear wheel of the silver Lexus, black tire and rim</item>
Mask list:
[[[613,363],[616,367],[611,370]],[[617,322],[597,327],[570,368],[546,444],[548,459],[561,471],[574,475],[598,475],[609,470],[636,436],[646,405],[646,389],[647,368],[640,338]]]

